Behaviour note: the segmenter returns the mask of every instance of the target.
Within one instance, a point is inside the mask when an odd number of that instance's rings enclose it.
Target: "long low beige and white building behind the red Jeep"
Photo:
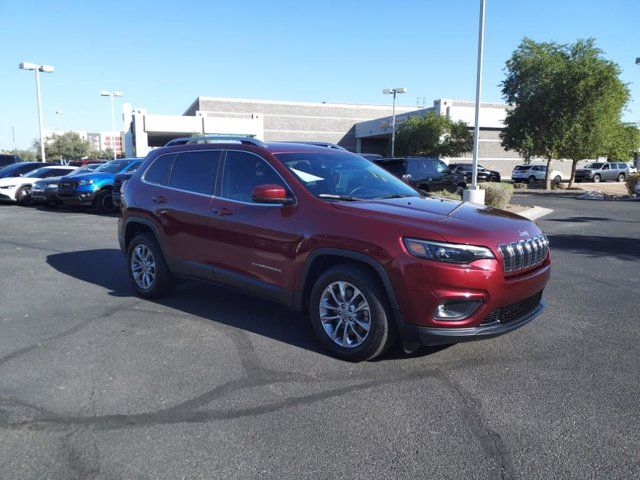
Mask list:
[[[182,115],[149,114],[143,108],[123,105],[125,153],[145,156],[169,140],[191,135],[242,135],[264,141],[322,141],[337,143],[353,152],[387,152],[391,138],[391,105],[313,103],[198,97]],[[433,111],[473,128],[475,104],[469,101],[437,99],[426,108],[396,106],[396,122]],[[522,158],[504,150],[500,131],[507,105],[480,106],[479,162],[508,176]],[[445,161],[470,162],[471,154]],[[570,169],[569,162],[556,168]]]

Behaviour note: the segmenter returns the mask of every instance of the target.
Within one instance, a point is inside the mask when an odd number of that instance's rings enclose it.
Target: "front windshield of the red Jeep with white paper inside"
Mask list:
[[[351,153],[280,153],[276,155],[316,196],[353,199],[419,197],[402,180]]]

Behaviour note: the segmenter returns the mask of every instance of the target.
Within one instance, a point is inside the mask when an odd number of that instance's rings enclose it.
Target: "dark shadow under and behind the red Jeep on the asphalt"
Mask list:
[[[109,295],[135,295],[129,284],[125,259],[120,250],[105,248],[57,253],[47,256],[47,263],[65,275],[109,290]],[[316,341],[306,316],[300,312],[224,286],[181,281],[170,295],[149,301],[328,355]],[[410,356],[424,356],[439,350],[442,348],[421,348]],[[380,360],[407,356],[398,347]]]

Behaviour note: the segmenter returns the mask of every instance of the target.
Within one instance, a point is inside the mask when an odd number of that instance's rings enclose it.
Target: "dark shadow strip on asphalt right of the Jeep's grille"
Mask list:
[[[547,237],[552,252],[564,250],[583,255],[608,255],[629,260],[640,258],[640,242],[637,238],[554,234],[547,234]]]

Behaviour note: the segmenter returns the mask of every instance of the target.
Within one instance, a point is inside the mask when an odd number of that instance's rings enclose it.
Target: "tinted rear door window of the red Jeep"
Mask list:
[[[213,195],[220,150],[184,152],[173,163],[169,186],[188,192]]]

